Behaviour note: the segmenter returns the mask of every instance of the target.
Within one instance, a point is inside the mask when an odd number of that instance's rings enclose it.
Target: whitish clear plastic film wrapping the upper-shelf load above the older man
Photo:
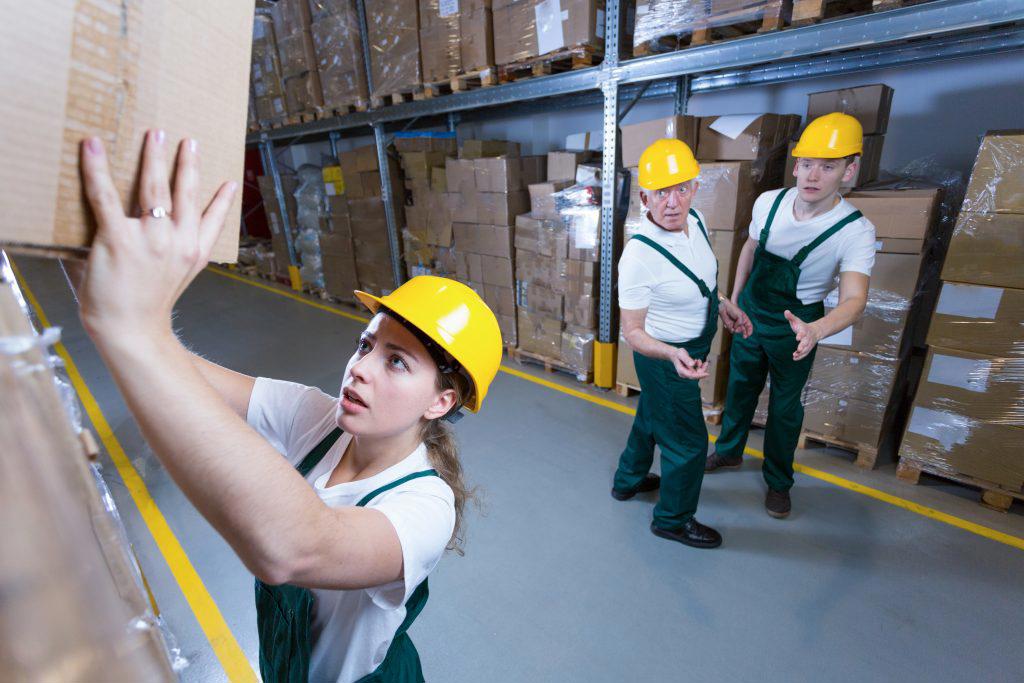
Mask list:
[[[782,5],[782,0],[637,0],[633,53],[675,50],[687,34],[781,17]]]

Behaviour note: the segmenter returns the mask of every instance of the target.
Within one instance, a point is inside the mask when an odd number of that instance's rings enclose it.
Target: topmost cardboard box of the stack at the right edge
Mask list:
[[[1024,130],[985,134],[964,197],[964,211],[1024,213]]]

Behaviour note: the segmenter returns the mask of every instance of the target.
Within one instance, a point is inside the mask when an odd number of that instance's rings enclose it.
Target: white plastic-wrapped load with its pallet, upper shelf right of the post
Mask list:
[[[777,31],[788,0],[647,0],[637,3],[634,56]]]

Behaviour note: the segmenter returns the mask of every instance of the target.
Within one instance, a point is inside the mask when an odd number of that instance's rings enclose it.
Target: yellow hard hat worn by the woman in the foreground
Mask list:
[[[419,331],[428,351],[433,342],[455,358],[473,384],[466,408],[480,410],[502,364],[502,331],[476,292],[447,278],[418,275],[387,296],[359,291],[355,296],[371,312],[383,306],[414,328],[414,334]]]

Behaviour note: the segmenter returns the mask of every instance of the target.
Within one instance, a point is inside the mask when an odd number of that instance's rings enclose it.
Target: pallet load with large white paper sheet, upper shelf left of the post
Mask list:
[[[604,56],[604,0],[494,0],[501,82],[590,67]]]

